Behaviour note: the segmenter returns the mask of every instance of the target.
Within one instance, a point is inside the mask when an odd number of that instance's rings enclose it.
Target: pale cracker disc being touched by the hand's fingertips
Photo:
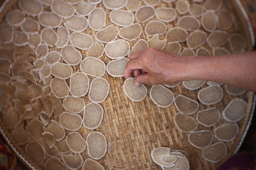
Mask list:
[[[135,86],[135,78],[127,78],[124,81],[124,93],[132,101],[141,101],[147,96],[147,88],[145,85]]]

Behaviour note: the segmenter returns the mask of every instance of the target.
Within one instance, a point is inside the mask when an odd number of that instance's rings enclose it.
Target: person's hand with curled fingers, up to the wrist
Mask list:
[[[130,61],[125,68],[125,78],[136,76],[135,85],[167,84],[181,81],[184,67],[184,57],[179,57],[164,50],[148,48],[130,55]]]

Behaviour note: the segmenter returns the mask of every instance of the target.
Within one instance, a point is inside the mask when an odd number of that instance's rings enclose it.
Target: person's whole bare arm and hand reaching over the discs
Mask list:
[[[180,57],[164,50],[148,48],[132,53],[125,78],[136,76],[135,84],[166,84],[187,80],[207,80],[256,92],[256,52],[212,57]]]

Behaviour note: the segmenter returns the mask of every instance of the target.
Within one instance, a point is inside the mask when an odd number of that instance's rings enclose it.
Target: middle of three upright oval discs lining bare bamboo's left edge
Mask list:
[[[100,104],[88,103],[84,108],[83,124],[87,129],[96,129],[102,122],[104,110]]]

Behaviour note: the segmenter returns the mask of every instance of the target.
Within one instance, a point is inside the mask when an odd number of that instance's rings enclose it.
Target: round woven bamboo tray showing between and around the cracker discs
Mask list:
[[[227,3],[224,1],[224,3]],[[99,4],[100,7],[104,8],[102,3]],[[158,6],[166,6],[164,3],[158,4]],[[174,6],[172,3],[168,6]],[[15,0],[6,1],[1,7],[0,19],[4,20],[4,15],[6,12],[17,8],[17,2]],[[248,22],[246,13],[241,6],[241,3],[237,0],[232,0],[230,3],[225,4],[225,8],[230,12],[236,15],[236,22],[232,29],[237,32],[244,33],[247,41],[247,50],[252,49],[254,39],[252,34],[252,28]],[[49,10],[49,7],[46,7],[44,10]],[[106,25],[111,24],[108,15],[110,10],[106,10],[107,20]],[[145,24],[141,24],[143,28]],[[177,25],[177,20],[174,22],[167,23],[168,28],[174,27]],[[42,28],[41,28],[42,29]],[[229,32],[232,32],[232,29]],[[84,31],[95,38],[95,31]],[[141,37],[145,40],[148,40],[148,36],[143,32]],[[131,46],[134,43],[131,41]],[[185,43],[181,43],[184,48]],[[209,48],[209,46],[205,46]],[[228,48],[228,47],[227,47]],[[56,50],[60,52],[60,49],[50,47],[49,51]],[[86,56],[86,50],[80,50],[83,57]],[[110,59],[104,56],[101,58],[105,63],[108,63]],[[74,71],[77,71],[77,67],[73,67]],[[178,112],[174,104],[168,108],[159,108],[152,102],[149,96],[150,86],[147,85],[148,95],[140,102],[133,102],[125,96],[123,91],[123,84],[125,78],[113,78],[107,73],[103,76],[108,80],[110,84],[109,95],[106,101],[100,103],[104,108],[104,118],[102,124],[97,131],[102,132],[108,141],[108,151],[106,155],[98,160],[100,164],[105,166],[106,169],[110,167],[122,167],[125,169],[161,169],[159,166],[154,164],[151,159],[150,152],[156,147],[166,146],[175,150],[185,150],[189,156],[189,163],[191,169],[216,169],[219,167],[225,160],[230,158],[235,152],[237,152],[239,146],[243,142],[243,138],[248,130],[250,121],[253,115],[253,92],[246,92],[243,96],[240,96],[248,103],[248,108],[246,110],[246,116],[238,122],[239,124],[239,134],[237,138],[226,143],[228,146],[228,154],[225,159],[219,163],[213,164],[207,162],[202,158],[201,150],[191,146],[188,143],[188,134],[185,132],[180,132],[173,122],[173,117]],[[90,78],[92,80],[92,78]],[[204,85],[202,88],[207,87]],[[183,94],[184,96],[191,97],[198,101],[197,93],[199,90],[187,90],[183,85],[178,85],[175,88],[171,89],[175,96],[178,94]],[[204,110],[206,108],[211,108],[216,106],[220,110],[223,110],[227,104],[234,99],[234,96],[228,95],[224,90],[224,97],[220,103],[205,106],[200,103],[199,110]],[[90,103],[88,96],[83,97],[85,103]],[[255,101],[255,99],[254,99]],[[2,116],[3,114],[1,114]],[[195,118],[196,114],[193,114],[192,117]],[[56,119],[58,120],[58,119]],[[218,124],[214,127],[218,127],[223,124],[225,120],[221,118]],[[1,134],[6,139],[8,145],[17,153],[18,157],[31,169],[42,169],[42,166],[38,167],[34,164],[28,156],[24,153],[24,146],[16,145],[13,139],[10,137],[10,131],[5,129],[3,126],[3,118],[0,118],[1,125]],[[203,129],[213,130],[214,127],[203,127],[199,125],[196,129],[197,131]],[[82,127],[79,129],[79,132],[85,139],[86,136],[92,132],[92,130]],[[67,131],[66,131],[67,134]],[[214,142],[217,140],[214,139]],[[81,153],[83,159],[89,158],[87,149]],[[60,156],[60,155],[59,155]],[[58,157],[59,157],[58,156]]]

